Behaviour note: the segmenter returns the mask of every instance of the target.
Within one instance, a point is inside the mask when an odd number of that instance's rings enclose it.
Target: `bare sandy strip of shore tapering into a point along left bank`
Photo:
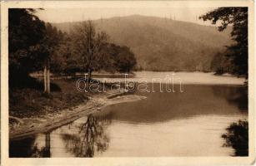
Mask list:
[[[143,100],[146,97],[141,95],[124,95],[125,92],[119,92],[112,95],[107,95],[107,93],[101,95],[95,95],[90,97],[86,104],[76,106],[72,111],[70,109],[65,109],[61,114],[48,115],[43,119],[38,118],[24,118],[20,120],[25,120],[23,125],[17,127],[18,129],[9,128],[9,139],[23,139],[33,134],[47,133],[53,129],[57,129],[63,125],[68,125],[74,120],[93,114],[94,112],[102,111],[104,107],[108,105],[115,105],[118,103],[133,102],[138,100]],[[120,96],[121,95],[121,96]],[[114,96],[114,97],[113,97]],[[48,119],[49,117],[55,117],[53,119]],[[33,123],[33,121],[35,123]],[[31,123],[32,122],[32,123]]]

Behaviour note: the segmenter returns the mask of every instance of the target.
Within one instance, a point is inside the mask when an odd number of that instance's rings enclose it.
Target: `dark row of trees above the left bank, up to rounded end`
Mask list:
[[[40,9],[38,9],[40,10]],[[130,72],[136,65],[127,46],[108,42],[92,22],[83,22],[68,34],[41,21],[34,9],[9,9],[9,83],[19,85],[29,74],[43,71],[46,61],[52,73],[93,71]]]

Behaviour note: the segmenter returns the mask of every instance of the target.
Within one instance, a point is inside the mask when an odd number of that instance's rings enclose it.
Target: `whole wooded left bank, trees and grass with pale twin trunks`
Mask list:
[[[89,74],[88,87],[93,71],[128,73],[137,63],[128,46],[109,41],[108,34],[96,30],[93,22],[81,22],[72,32],[63,32],[40,20],[38,10],[43,9],[8,11],[9,115],[13,127],[15,117],[54,114],[88,102],[89,94],[76,88],[75,72]],[[43,72],[43,77],[34,77],[34,72]],[[55,80],[53,74],[73,77]]]

